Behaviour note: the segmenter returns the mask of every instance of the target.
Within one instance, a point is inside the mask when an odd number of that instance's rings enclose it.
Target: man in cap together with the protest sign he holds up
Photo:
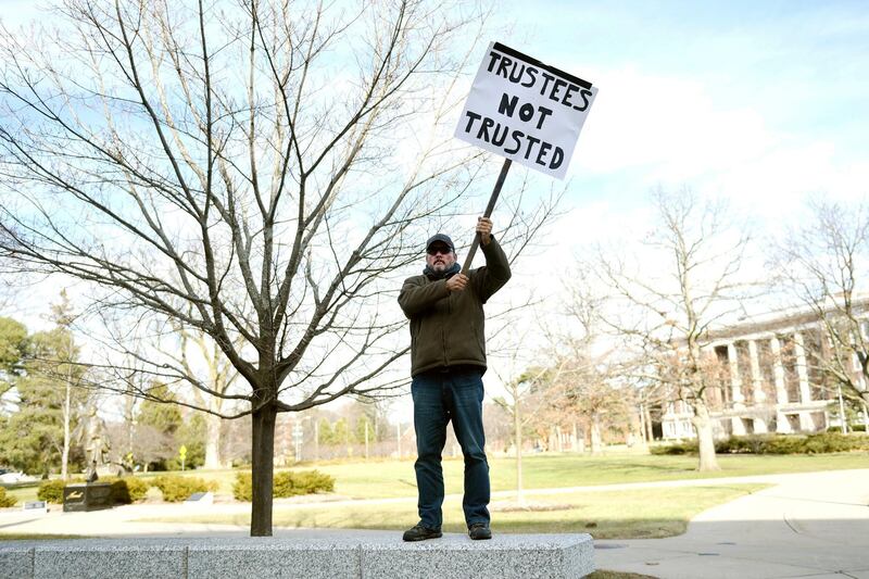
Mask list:
[[[438,234],[426,243],[421,276],[404,281],[399,304],[411,320],[411,391],[416,430],[419,523],[405,541],[441,537],[446,424],[465,456],[462,507],[471,539],[491,539],[489,463],[483,445],[482,375],[486,372],[486,301],[511,277],[507,257],[492,237],[492,215],[511,164],[563,179],[596,87],[500,42],[489,45],[455,136],[504,156],[465,267],[455,247]],[[486,267],[469,270],[477,247]]]

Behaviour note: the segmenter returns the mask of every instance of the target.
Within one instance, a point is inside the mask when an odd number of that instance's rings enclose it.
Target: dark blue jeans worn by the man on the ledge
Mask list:
[[[443,470],[441,453],[446,443],[446,425],[453,431],[465,456],[465,496],[462,508],[465,523],[489,525],[489,463],[482,429],[483,368],[464,366],[449,372],[428,372],[414,376],[416,430],[416,486],[419,491],[419,520],[429,528],[443,523]]]

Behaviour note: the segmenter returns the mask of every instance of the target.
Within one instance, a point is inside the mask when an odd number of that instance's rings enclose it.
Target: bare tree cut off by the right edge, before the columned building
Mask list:
[[[806,350],[810,369],[831,394],[869,411],[869,207],[815,200],[808,209],[805,225],[772,246],[772,268],[820,326],[820,343]]]

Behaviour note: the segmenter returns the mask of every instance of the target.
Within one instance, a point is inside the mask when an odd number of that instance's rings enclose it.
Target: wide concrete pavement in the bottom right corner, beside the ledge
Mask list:
[[[869,579],[869,469],[777,476],[669,539],[595,541],[597,568],[660,578]]]

